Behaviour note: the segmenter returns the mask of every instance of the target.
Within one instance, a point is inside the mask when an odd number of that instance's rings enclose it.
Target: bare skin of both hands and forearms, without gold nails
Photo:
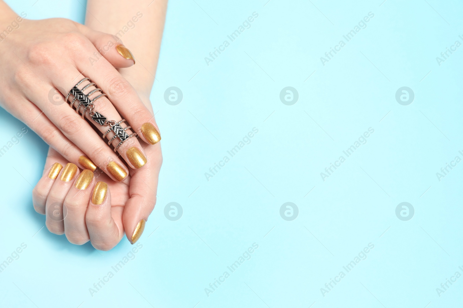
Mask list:
[[[111,102],[106,98],[98,100],[96,110],[102,110],[101,113],[111,115],[114,120],[125,118],[132,127],[138,127],[135,128],[138,132],[145,122],[157,128],[149,96],[156,72],[167,1],[151,4],[150,1],[139,1],[136,5],[130,5],[131,10],[125,9],[125,6],[127,2],[122,0],[113,1],[109,8],[102,0],[89,0],[88,11],[92,14],[87,14],[90,16],[86,20],[87,26],[61,18],[23,20],[19,29],[13,30],[0,42],[1,106],[24,121],[50,145],[44,176],[33,191],[34,208],[44,214],[50,198],[54,204],[78,209],[69,211],[61,222],[47,215],[47,228],[56,234],[66,234],[69,241],[75,244],[90,240],[95,248],[101,250],[113,248],[124,232],[130,241],[138,222],[148,219],[156,203],[157,179],[162,164],[160,144],[143,142],[146,139],[140,133],[143,141],[138,142],[135,138],[127,140],[125,148],[121,146],[118,157],[84,120],[79,118],[81,121],[63,124],[63,117],[72,119],[75,110],[70,109],[69,104],[57,106],[50,103],[48,95],[53,88],[70,89],[83,78],[79,73],[85,72],[85,76],[96,82],[111,98]],[[115,44],[122,42],[103,31],[115,34],[138,11],[143,12],[144,18],[140,18],[136,28],[123,36],[124,45],[130,48],[139,63],[133,66],[132,60],[120,56],[115,49]],[[6,29],[16,17],[0,1],[0,29]],[[108,42],[113,42],[112,48],[107,48]],[[109,50],[103,57],[90,63],[88,58],[104,47]],[[60,91],[66,95],[65,91]],[[80,133],[74,133],[75,130]],[[136,146],[144,152],[148,162],[142,168],[132,169],[133,165],[124,154],[128,146]],[[77,198],[79,202],[76,204],[69,201],[76,198],[66,197],[68,193],[75,193],[72,185],[60,187],[55,185],[59,178],[51,183],[47,176],[50,166],[56,162],[63,166],[68,162],[79,166],[78,157],[83,154],[106,173],[98,173],[92,184],[93,187],[96,181],[105,181],[109,187],[108,197],[99,206],[99,211],[95,211],[98,206],[89,201],[92,187],[86,189],[89,193],[79,194],[81,198]],[[108,158],[125,166],[130,172],[124,181],[113,181],[108,176]],[[73,181],[76,178],[77,175]]]

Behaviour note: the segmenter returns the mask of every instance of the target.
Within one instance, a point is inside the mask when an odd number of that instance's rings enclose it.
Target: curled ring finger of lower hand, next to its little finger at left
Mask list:
[[[79,175],[79,168],[73,163],[67,163],[50,189],[45,203],[45,225],[51,233],[64,233],[63,219],[67,210],[63,209],[63,202],[76,175]]]

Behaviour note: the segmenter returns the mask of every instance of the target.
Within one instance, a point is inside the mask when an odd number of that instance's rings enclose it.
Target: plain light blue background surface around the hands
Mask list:
[[[151,95],[162,130],[158,199],[135,259],[92,297],[89,288],[130,251],[75,246],[51,234],[32,208],[47,145],[31,132],[0,157],[1,307],[457,307],[463,278],[463,41],[458,1],[171,1]],[[83,21],[83,1],[7,1],[28,18]],[[130,9],[130,8],[128,8]],[[242,22],[250,29],[209,66],[204,58]],[[320,57],[373,12],[332,60]],[[136,13],[136,12],[134,12]],[[345,40],[344,40],[345,42]],[[309,77],[310,76],[310,77]],[[164,101],[176,86],[180,104]],[[299,100],[280,101],[292,86]],[[402,106],[395,92],[413,89]],[[3,146],[24,124],[1,111]],[[204,173],[257,127],[217,175]],[[369,127],[375,132],[329,178],[334,163]],[[13,168],[14,167],[14,168]],[[170,221],[164,207],[178,202]],[[283,220],[294,202],[299,215]],[[409,221],[395,215],[413,205]],[[38,230],[40,230],[38,232]],[[38,233],[37,233],[38,232]],[[329,293],[320,288],[369,243],[375,247]],[[259,248],[213,293],[253,243]],[[345,272],[345,271],[344,271]]]

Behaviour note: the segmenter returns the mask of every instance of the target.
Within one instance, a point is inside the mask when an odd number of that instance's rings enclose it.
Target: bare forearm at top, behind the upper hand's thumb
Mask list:
[[[88,0],[85,24],[113,34],[134,55],[136,65],[119,72],[142,98],[150,96],[163,36],[167,0]],[[143,97],[144,96],[144,97]]]

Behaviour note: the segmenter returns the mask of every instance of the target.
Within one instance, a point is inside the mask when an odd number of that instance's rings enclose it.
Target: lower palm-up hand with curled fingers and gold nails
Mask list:
[[[161,167],[161,162],[156,162],[156,157],[160,157],[156,149],[159,148],[146,146],[153,166],[129,176],[127,184],[113,181],[104,173],[80,171],[50,148],[43,176],[32,193],[34,208],[46,215],[50,232],[65,234],[73,244],[90,240],[94,248],[109,250],[120,242],[124,231],[133,244],[142,235],[156,203]],[[144,203],[148,205],[140,206]]]

